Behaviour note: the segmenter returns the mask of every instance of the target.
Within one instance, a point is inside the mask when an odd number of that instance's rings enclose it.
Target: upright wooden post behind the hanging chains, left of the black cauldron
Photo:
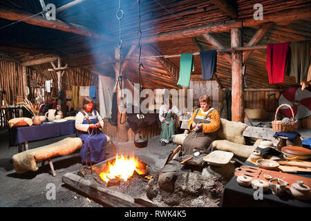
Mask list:
[[[117,79],[119,78],[119,76],[122,74],[120,73],[120,49],[118,47],[115,48],[115,80],[117,82]],[[122,79],[122,87],[124,87],[124,79]],[[120,88],[119,84],[117,83],[117,107],[118,107],[118,111],[117,111],[117,140],[118,142],[127,142],[128,141],[128,135],[127,135],[127,130],[126,130],[126,124],[121,124],[120,121],[126,122],[126,113],[125,113],[125,109],[123,110],[122,107],[119,105],[121,102],[121,90],[122,88]],[[123,111],[124,113],[121,112]]]

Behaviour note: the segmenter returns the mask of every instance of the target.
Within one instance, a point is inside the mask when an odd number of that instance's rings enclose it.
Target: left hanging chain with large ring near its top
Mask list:
[[[120,115],[120,124],[124,124],[124,122],[121,122],[122,119],[122,112],[124,111],[124,100],[122,95],[122,80],[123,80],[123,71],[122,71],[122,32],[121,32],[121,19],[124,15],[123,10],[121,9],[121,0],[119,0],[119,8],[117,9],[116,17],[117,20],[119,20],[119,41],[117,41],[117,46],[119,47],[119,77],[117,77],[117,82],[120,86],[120,106],[121,106],[121,115]]]

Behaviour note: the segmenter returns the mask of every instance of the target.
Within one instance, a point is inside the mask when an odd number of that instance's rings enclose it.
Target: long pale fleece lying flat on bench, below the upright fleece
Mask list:
[[[214,140],[211,143],[212,148],[216,148],[219,151],[229,151],[237,155],[238,157],[248,158],[256,148],[254,146],[247,146],[243,144],[236,144],[234,142],[229,142],[228,140]]]

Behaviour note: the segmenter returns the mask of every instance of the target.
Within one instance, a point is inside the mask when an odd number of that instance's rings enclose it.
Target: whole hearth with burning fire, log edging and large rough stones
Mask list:
[[[203,154],[181,164],[183,157],[171,160],[167,155],[150,154],[150,150],[135,151],[131,156],[126,147],[124,155],[93,165],[92,173],[90,169],[66,173],[62,181],[104,205],[191,207],[219,206],[225,184],[234,175],[230,162],[201,164]]]

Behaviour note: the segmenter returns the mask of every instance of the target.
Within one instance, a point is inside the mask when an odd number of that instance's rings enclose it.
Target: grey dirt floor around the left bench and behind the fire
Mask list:
[[[40,140],[28,143],[28,148],[37,148],[53,142],[57,142],[66,137],[75,137],[75,135],[66,135],[62,137]],[[117,153],[127,153],[138,155],[145,162],[161,169],[164,166],[169,151],[176,145],[168,144],[161,146],[160,138],[152,137],[149,139],[146,148],[135,148],[133,142],[126,142],[115,146]],[[55,157],[52,159],[56,176],[50,173],[50,167],[46,162],[44,170],[24,174],[15,173],[12,164],[12,156],[18,153],[17,146],[8,145],[8,130],[0,128],[0,206],[1,207],[100,207],[104,206],[88,198],[87,195],[77,193],[62,182],[62,175],[68,172],[78,171],[82,168],[79,152],[71,155]],[[106,151],[106,158],[113,156],[112,149]],[[41,163],[37,164],[38,167]],[[55,185],[55,200],[50,191]],[[52,198],[48,200],[48,198]]]

